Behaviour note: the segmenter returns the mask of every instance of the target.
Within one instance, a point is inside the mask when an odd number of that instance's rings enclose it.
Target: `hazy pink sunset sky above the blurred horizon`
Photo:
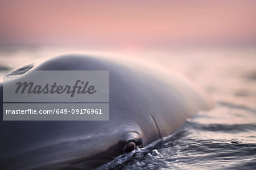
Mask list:
[[[256,1],[0,1],[0,44],[256,42]]]

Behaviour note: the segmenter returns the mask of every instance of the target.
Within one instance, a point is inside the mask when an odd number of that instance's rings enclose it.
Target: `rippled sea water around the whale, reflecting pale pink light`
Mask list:
[[[1,66],[13,68],[59,52],[1,51]],[[118,156],[101,168],[256,169],[255,49],[144,51],[136,55],[138,60],[186,74],[209,93],[215,107],[188,119],[175,134]]]

